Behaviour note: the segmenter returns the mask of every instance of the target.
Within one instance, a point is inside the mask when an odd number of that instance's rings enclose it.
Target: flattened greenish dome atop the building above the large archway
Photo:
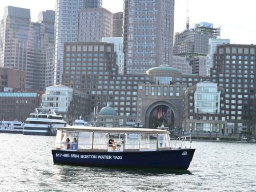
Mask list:
[[[146,71],[147,75],[150,76],[179,76],[182,75],[181,71],[169,65],[161,65],[158,67],[153,67]]]

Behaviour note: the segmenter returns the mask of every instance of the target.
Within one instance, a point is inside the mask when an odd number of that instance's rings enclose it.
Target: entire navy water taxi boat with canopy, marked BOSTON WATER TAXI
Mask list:
[[[139,134],[139,137],[129,138],[130,133]],[[186,137],[179,138],[181,142],[171,147],[169,135],[169,131],[157,129],[58,127],[55,149],[52,150],[53,162],[79,166],[187,170],[195,149],[183,146]],[[112,137],[114,143],[109,144]],[[70,143],[73,139],[74,142]]]

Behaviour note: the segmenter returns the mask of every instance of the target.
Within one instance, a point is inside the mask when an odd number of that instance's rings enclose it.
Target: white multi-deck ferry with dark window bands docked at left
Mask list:
[[[66,126],[62,115],[51,108],[36,108],[25,121],[23,135],[55,135],[59,126]]]

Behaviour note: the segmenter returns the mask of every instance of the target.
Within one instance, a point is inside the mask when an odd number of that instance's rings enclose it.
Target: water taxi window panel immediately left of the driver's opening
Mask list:
[[[109,134],[108,133],[94,133],[93,149],[108,149]]]

